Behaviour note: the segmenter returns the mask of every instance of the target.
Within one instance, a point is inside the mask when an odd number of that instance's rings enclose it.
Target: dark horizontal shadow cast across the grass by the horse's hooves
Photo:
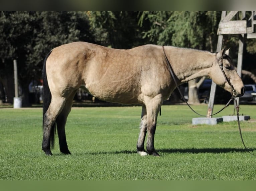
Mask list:
[[[256,151],[256,148],[248,149],[250,152]],[[158,149],[159,153],[236,153],[236,152],[247,152],[243,148],[171,148],[171,149]],[[121,151],[99,151],[99,152],[85,152],[85,153],[76,153],[75,155],[98,155],[98,154],[135,154],[136,151],[131,150],[121,150]]]

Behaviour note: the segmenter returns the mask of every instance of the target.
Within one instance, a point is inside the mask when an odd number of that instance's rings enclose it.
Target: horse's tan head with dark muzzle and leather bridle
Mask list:
[[[228,55],[229,50],[226,51],[225,49],[216,54],[216,62],[210,72],[210,77],[217,85],[230,92],[233,96],[239,97],[244,95],[244,84]]]

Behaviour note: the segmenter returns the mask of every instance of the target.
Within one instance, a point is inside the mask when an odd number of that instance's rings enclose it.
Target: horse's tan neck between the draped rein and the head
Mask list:
[[[181,83],[208,76],[215,55],[207,51],[172,47],[169,52],[173,71]]]

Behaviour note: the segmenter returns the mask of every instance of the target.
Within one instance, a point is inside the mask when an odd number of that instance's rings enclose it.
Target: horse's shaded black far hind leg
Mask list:
[[[68,149],[66,133],[65,133],[65,125],[67,122],[67,117],[71,111],[73,105],[73,98],[76,92],[74,92],[66,101],[65,106],[63,107],[62,111],[58,115],[56,119],[57,123],[57,131],[58,131],[58,138],[59,138],[59,149],[60,152],[64,154],[71,154]]]

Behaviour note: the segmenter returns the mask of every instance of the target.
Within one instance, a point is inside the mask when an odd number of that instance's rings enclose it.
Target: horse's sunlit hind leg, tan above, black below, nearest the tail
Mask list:
[[[61,112],[63,106],[65,105],[66,98],[60,96],[52,96],[51,103],[44,114],[44,126],[43,126],[43,143],[42,150],[47,155],[51,155],[50,142],[53,141],[51,138],[54,138],[54,123],[57,116]],[[52,142],[53,145],[54,142]]]

